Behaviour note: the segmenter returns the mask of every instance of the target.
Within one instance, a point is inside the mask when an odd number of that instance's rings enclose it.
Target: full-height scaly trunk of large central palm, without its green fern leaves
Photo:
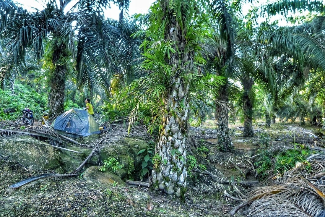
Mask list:
[[[193,53],[185,51],[188,44],[185,38],[187,23],[179,23],[180,20],[176,17],[179,12],[174,8],[174,2],[161,0],[159,3],[165,14],[163,20],[167,21],[164,40],[175,42],[173,48],[176,53],[171,53],[170,58],[165,57],[168,65],[172,66],[172,76],[169,79],[170,83],[166,84],[167,94],[163,99],[163,130],[156,146],[159,159],[153,160],[152,183],[155,189],[159,188],[184,200],[187,189],[185,140],[188,132],[189,83],[183,80],[183,76],[192,69],[189,62],[192,61]],[[187,4],[184,4],[178,9],[186,10],[184,8],[186,6]],[[185,17],[181,19],[184,20]]]

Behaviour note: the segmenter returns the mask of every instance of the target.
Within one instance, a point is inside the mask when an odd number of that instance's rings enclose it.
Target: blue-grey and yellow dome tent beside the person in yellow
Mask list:
[[[50,127],[81,136],[100,133],[93,115],[89,115],[84,109],[73,108],[64,112],[55,119]]]

